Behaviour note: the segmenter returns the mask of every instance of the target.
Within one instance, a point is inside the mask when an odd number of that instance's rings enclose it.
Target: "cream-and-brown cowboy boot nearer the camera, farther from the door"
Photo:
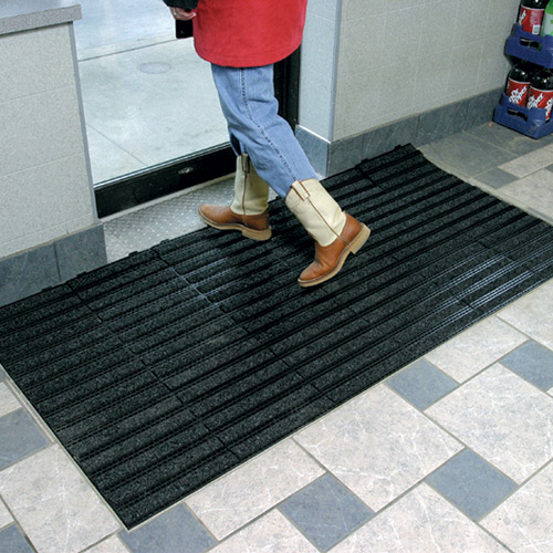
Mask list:
[[[314,178],[293,182],[285,204],[315,240],[315,260],[300,274],[300,286],[315,286],[335,276],[347,255],[357,253],[371,234]]]

